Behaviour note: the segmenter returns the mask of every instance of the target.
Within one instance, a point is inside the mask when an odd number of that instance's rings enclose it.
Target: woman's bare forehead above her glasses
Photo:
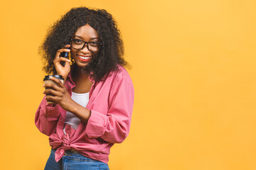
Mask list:
[[[78,27],[78,30],[75,32],[75,35],[80,36],[83,39],[99,37],[97,30],[92,28],[89,24],[86,24],[85,26]]]

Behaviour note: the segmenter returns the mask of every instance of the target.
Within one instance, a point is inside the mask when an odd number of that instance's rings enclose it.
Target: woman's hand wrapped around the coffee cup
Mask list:
[[[43,91],[43,94],[47,95],[46,100],[59,104],[65,111],[68,111],[74,102],[70,97],[68,90],[59,79],[56,79],[55,77],[50,77],[50,79],[56,84],[43,85],[46,88],[46,91]]]

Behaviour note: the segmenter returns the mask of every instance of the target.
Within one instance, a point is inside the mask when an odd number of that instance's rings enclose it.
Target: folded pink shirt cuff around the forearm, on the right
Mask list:
[[[85,129],[85,134],[89,138],[97,138],[104,135],[105,128],[107,126],[107,120],[107,115],[97,111],[91,111],[91,115]]]

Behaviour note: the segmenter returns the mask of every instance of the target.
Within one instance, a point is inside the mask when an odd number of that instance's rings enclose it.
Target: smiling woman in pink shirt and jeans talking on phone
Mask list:
[[[45,169],[109,169],[110,147],[127,137],[134,102],[117,24],[105,10],[72,8],[50,28],[41,52],[46,73],[64,78],[43,85],[47,97],[36,111],[52,147]]]

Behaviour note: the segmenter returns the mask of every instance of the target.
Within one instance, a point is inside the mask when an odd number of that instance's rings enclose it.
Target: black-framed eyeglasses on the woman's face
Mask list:
[[[70,38],[71,40],[71,47],[75,48],[76,50],[81,50],[85,47],[85,44],[87,44],[87,49],[90,52],[97,52],[100,50],[100,46],[102,45],[102,42],[85,42],[83,40],[78,40],[78,39],[73,39]]]

